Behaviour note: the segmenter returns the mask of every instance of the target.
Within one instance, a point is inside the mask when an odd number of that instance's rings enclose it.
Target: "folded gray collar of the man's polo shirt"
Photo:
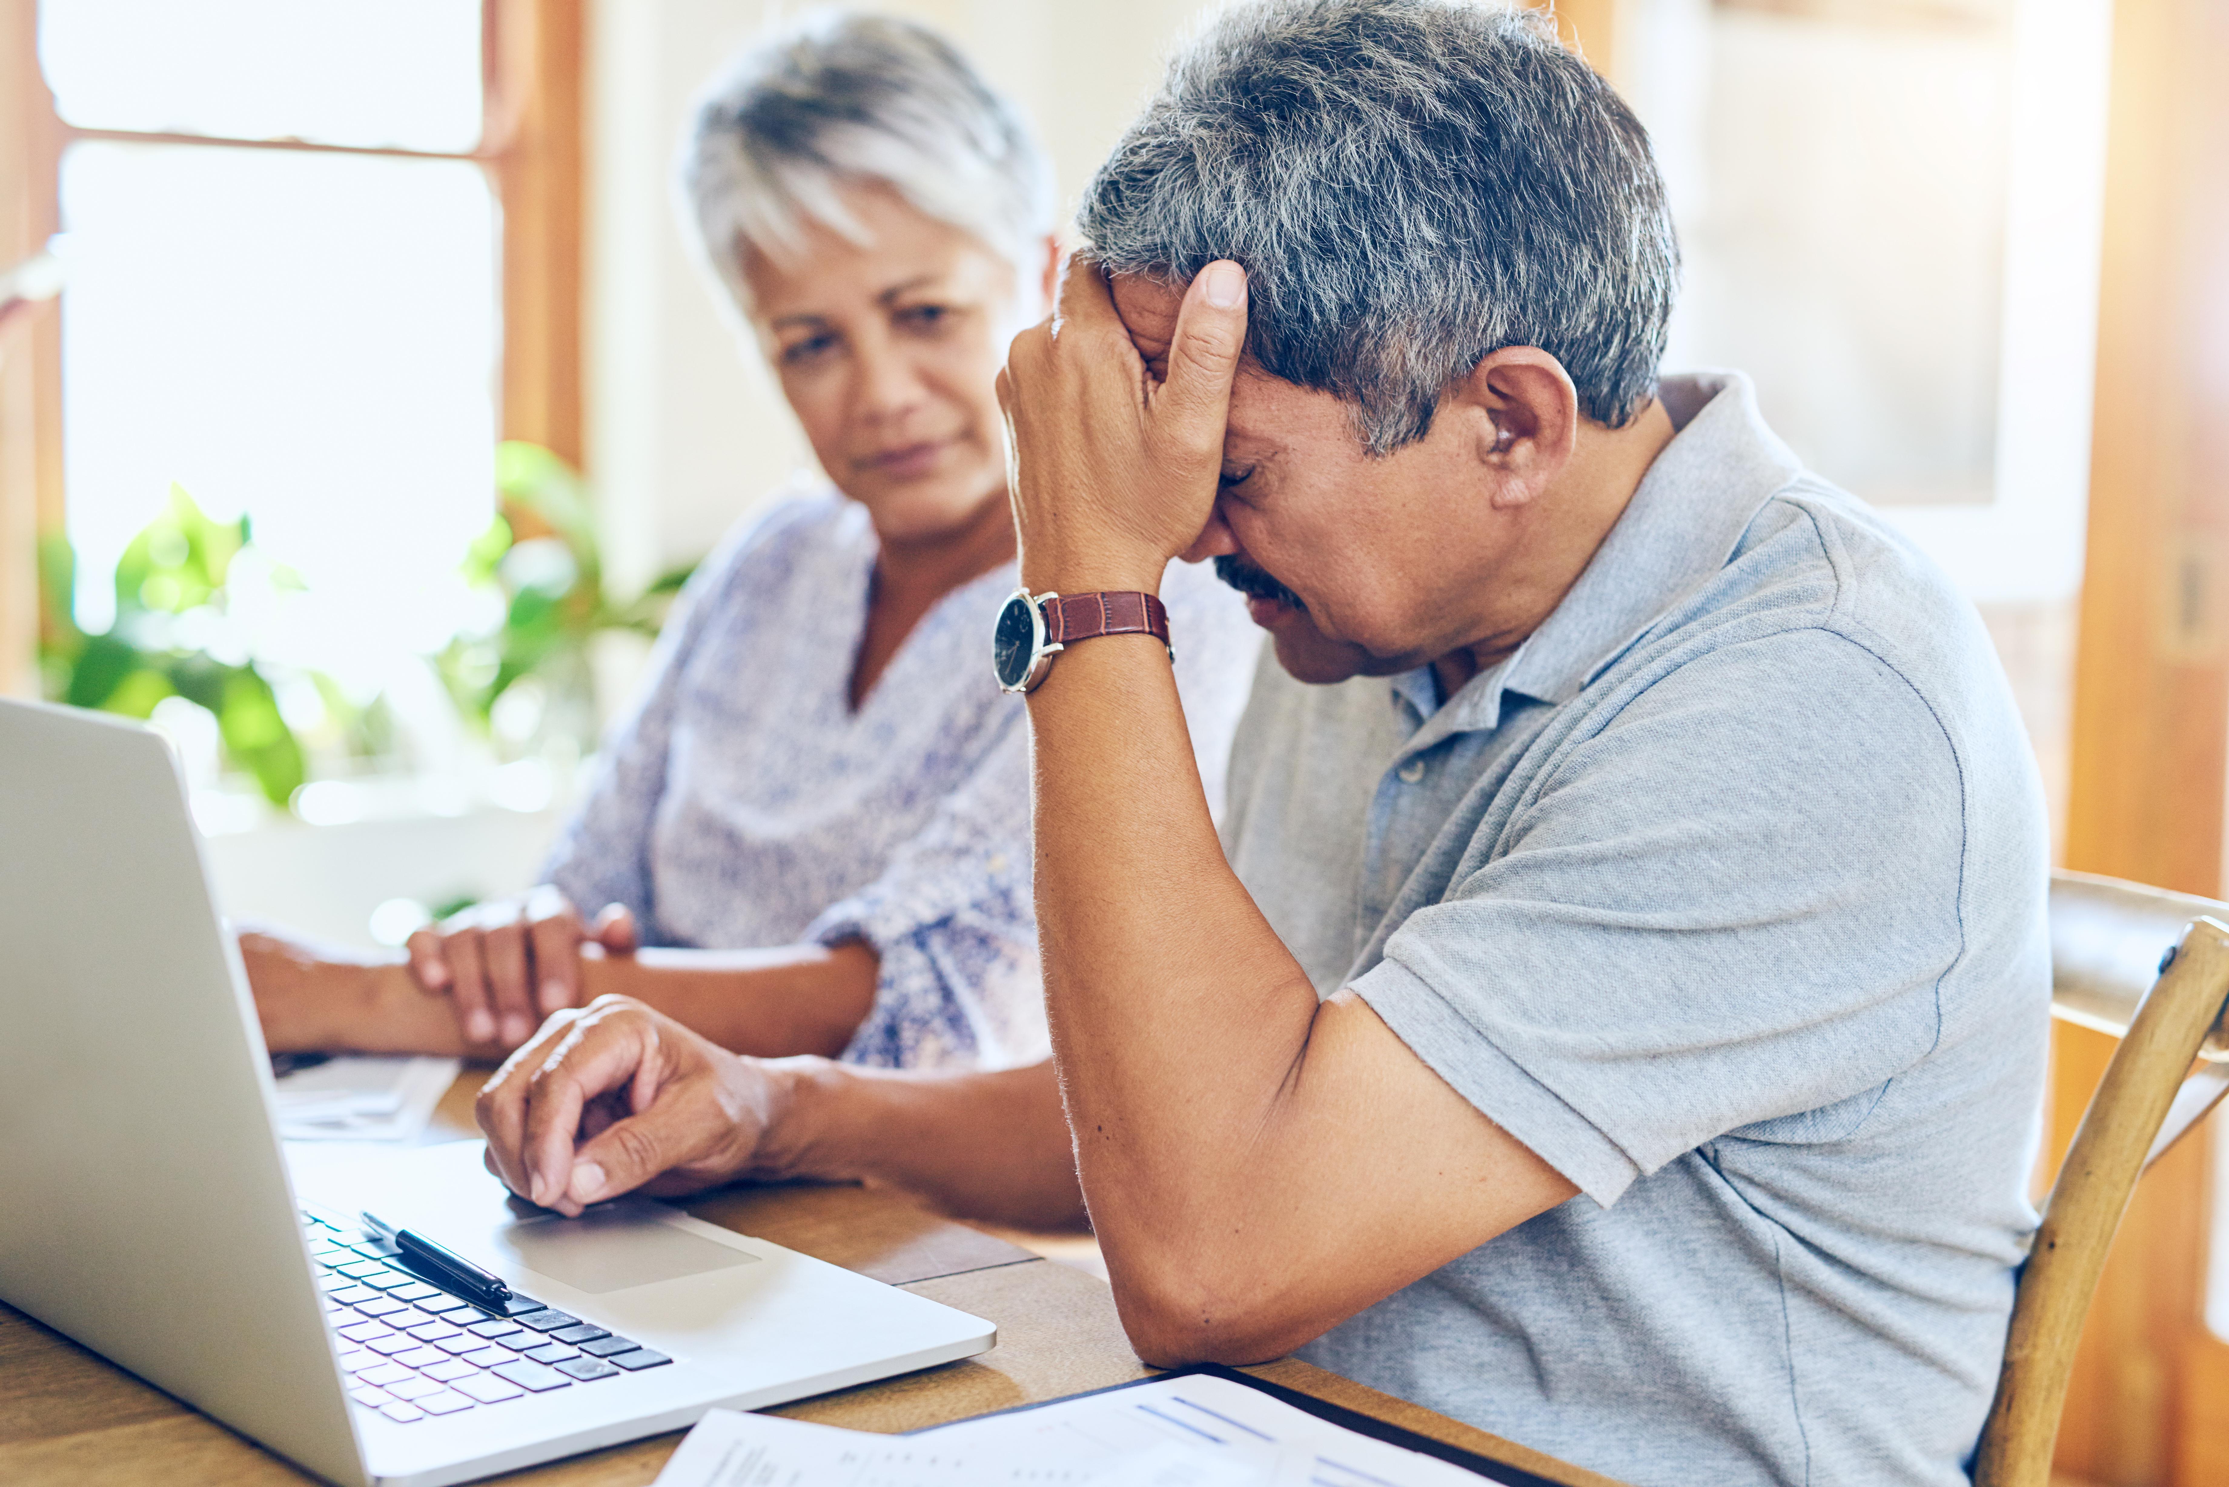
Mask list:
[[[1658,615],[1710,582],[1772,493],[1803,470],[1756,412],[1756,390],[1741,372],[1665,377],[1658,397],[1672,415],[1672,441],[1540,629],[1438,711],[1424,704],[1433,698],[1429,667],[1393,678],[1395,702],[1424,718],[1404,754],[1498,727],[1509,691],[1540,702],[1576,698]]]

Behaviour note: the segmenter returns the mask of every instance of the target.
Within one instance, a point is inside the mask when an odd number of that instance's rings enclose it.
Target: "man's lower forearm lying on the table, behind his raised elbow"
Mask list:
[[[1019,1228],[1083,1228],[1052,1061],[999,1072],[916,1072],[782,1059],[762,1177],[874,1182],[936,1208]]]

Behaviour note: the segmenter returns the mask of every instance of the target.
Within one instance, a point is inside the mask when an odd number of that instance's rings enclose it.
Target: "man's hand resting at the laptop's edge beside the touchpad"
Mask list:
[[[488,1170],[568,1217],[642,1188],[695,1193],[751,1170],[778,1068],[629,997],[562,1010],[479,1092]]]

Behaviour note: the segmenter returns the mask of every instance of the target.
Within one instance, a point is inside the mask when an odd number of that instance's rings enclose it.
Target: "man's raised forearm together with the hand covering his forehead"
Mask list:
[[[1172,555],[1235,548],[1221,493],[1253,479],[1228,468],[1246,272],[1217,261],[1157,292],[1177,303],[1130,325],[1079,259],[1057,314],[1008,348],[1030,593],[1155,589]],[[1306,1251],[1324,1184],[1293,1119],[1311,1106],[1315,988],[1224,861],[1161,644],[1068,644],[1030,731],[1045,1010],[1123,1324],[1148,1358],[1282,1351],[1326,1311],[1282,1304],[1295,1286],[1322,1302]]]

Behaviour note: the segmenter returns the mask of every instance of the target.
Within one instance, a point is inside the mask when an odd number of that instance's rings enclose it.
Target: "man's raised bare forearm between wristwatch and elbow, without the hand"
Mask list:
[[[1117,1291],[1215,1275],[1264,1237],[1242,1231],[1315,990],[1224,861],[1152,642],[1063,653],[1030,720],[1045,999],[1092,1222]]]

